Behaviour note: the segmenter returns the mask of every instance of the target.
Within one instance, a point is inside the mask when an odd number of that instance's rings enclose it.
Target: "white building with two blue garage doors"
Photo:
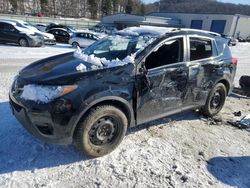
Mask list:
[[[250,16],[154,12],[149,16],[178,19],[186,28],[203,29],[234,37],[250,36]]]

